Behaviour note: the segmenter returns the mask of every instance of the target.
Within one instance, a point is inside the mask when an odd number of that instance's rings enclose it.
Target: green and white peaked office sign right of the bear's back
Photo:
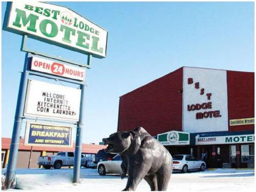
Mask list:
[[[189,145],[189,133],[170,131],[157,135],[162,145]]]

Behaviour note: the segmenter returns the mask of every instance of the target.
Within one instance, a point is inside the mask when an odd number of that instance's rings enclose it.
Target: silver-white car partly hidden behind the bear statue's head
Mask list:
[[[97,164],[99,175],[106,174],[122,174],[121,163],[122,158],[120,155],[116,155],[112,160],[100,161]]]

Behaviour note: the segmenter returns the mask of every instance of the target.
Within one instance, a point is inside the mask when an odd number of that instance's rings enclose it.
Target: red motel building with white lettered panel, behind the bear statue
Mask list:
[[[118,131],[143,126],[172,155],[254,163],[254,73],[182,67],[120,97]]]

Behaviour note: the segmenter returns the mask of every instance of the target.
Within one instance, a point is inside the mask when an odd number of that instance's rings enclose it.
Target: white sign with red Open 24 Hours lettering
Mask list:
[[[41,57],[32,57],[31,69],[43,73],[49,73],[61,77],[81,80],[85,79],[86,70],[64,63],[55,62]]]

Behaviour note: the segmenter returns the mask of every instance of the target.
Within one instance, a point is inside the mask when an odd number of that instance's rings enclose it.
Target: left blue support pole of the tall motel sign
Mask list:
[[[20,83],[19,83],[19,91],[18,91],[16,112],[15,112],[15,118],[14,118],[12,140],[11,140],[11,146],[10,146],[10,156],[8,160],[7,170],[6,170],[5,184],[7,189],[11,188],[11,186],[15,182],[15,170],[16,170],[17,157],[18,157],[19,136],[20,136],[20,131],[22,130],[22,123],[24,119],[23,109],[25,105],[26,90],[28,85],[28,72],[26,71],[27,58],[28,57],[26,55],[24,69],[20,77]]]

